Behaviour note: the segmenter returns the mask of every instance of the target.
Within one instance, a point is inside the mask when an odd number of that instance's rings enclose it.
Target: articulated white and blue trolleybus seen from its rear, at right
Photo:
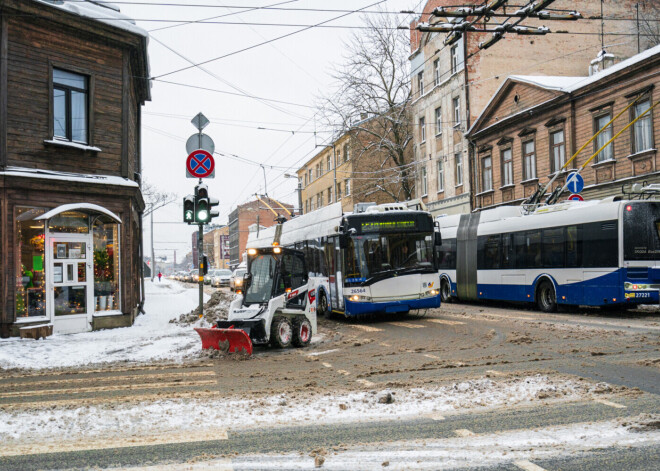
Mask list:
[[[643,197],[643,195],[642,195]],[[658,303],[660,202],[611,197],[438,217],[443,300]]]

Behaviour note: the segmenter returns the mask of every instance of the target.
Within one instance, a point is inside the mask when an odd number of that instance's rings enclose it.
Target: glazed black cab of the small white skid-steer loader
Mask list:
[[[287,304],[304,303],[304,296],[293,296],[307,284],[307,267],[301,251],[283,247],[248,249],[243,304],[268,304],[272,298],[291,293]],[[300,299],[298,299],[300,298]]]

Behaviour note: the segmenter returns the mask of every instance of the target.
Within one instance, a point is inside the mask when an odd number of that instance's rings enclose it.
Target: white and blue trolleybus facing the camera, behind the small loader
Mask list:
[[[305,253],[310,278],[317,278],[319,313],[348,317],[440,306],[433,250],[440,239],[426,211],[384,204],[343,214],[335,203],[252,233],[248,247],[273,240]]]

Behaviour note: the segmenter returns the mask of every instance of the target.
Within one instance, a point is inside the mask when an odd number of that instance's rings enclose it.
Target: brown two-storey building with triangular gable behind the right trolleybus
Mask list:
[[[659,72],[656,46],[590,77],[507,78],[468,133],[477,152],[474,208],[522,202],[634,102],[569,164],[571,169],[581,167],[658,101]],[[659,120],[656,107],[584,168],[585,199],[620,195],[622,185],[635,182],[660,183]],[[562,172],[555,186],[563,184],[566,175]]]

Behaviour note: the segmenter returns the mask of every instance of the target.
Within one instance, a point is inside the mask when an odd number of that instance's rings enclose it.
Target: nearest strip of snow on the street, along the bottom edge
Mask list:
[[[630,421],[630,419],[625,420]],[[389,442],[380,447],[349,447],[346,451],[328,452],[324,456],[322,468],[360,471],[487,467],[520,461],[533,463],[567,454],[575,456],[599,448],[658,445],[660,445],[660,431],[637,433],[624,425],[622,419],[617,419],[535,430],[514,430],[466,438]],[[214,461],[209,461],[179,469],[191,471],[316,469],[313,457],[300,454],[241,456],[231,461],[231,468],[223,467],[225,463],[226,460],[218,461],[219,466],[216,468]],[[388,463],[387,466],[384,463]]]

